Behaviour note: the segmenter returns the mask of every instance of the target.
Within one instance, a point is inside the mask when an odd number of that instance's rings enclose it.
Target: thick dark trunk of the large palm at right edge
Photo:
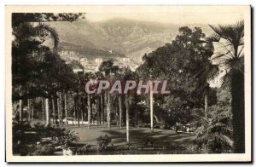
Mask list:
[[[234,152],[245,153],[244,76],[234,72],[231,80]]]

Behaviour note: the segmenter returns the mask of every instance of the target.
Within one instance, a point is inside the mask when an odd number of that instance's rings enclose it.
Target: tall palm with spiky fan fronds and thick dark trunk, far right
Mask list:
[[[232,25],[211,27],[214,34],[208,37],[207,42],[214,43],[222,51],[212,60],[216,61],[220,68],[224,68],[226,74],[223,80],[230,83],[234,152],[245,153],[244,20]]]

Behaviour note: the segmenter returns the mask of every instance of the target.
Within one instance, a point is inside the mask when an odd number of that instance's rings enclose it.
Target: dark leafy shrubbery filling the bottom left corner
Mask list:
[[[40,145],[36,147],[36,151],[28,150],[25,152],[30,145],[35,145],[38,141],[40,141]],[[34,127],[31,127],[29,123],[13,124],[14,153],[53,155],[55,146],[67,149],[77,141],[79,141],[77,132],[65,128],[45,127],[44,124],[34,124]]]

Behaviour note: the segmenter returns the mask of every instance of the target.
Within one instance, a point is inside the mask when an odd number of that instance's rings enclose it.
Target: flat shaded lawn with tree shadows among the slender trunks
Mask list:
[[[106,126],[93,125],[90,129],[86,125],[68,125],[69,130],[74,130],[79,133],[80,143],[87,143],[96,145],[96,138],[100,135],[108,134],[112,138],[113,145],[124,145],[126,143],[125,127],[119,130],[119,127],[112,126],[111,130],[108,130]],[[173,130],[157,130],[154,129],[154,134],[150,133],[149,128],[130,128],[130,142],[143,143],[143,138],[154,138],[158,144],[191,144],[195,135],[191,133],[176,133]]]

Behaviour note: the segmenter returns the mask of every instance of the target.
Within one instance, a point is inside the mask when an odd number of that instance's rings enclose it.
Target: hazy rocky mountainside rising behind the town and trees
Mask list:
[[[50,24],[59,33],[63,45],[65,43],[74,45],[81,54],[96,53],[108,56],[108,50],[113,50],[115,55],[125,55],[137,62],[142,61],[145,52],[151,52],[165,43],[171,43],[177,35],[178,28],[183,26],[120,18],[100,22],[79,20],[72,23]],[[207,25],[188,26],[191,28],[199,26],[207,35],[212,33]]]

